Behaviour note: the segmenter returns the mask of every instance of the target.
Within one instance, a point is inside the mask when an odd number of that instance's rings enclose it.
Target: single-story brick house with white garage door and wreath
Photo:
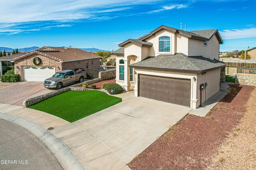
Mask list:
[[[36,60],[37,57],[39,57],[38,60]],[[72,68],[99,70],[100,59],[98,55],[76,48],[44,46],[10,58],[9,61],[14,62],[14,72],[20,74],[21,81],[44,81],[60,70]],[[39,61],[41,63],[37,65]]]

